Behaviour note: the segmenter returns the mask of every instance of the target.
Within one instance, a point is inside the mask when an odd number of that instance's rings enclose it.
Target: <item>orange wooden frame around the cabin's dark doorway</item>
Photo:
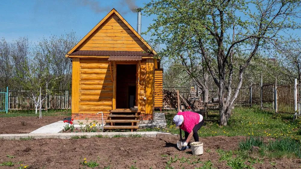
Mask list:
[[[117,78],[117,65],[136,65],[136,105],[139,110],[140,101],[140,63],[141,61],[113,61],[113,100],[112,100],[112,110],[116,109],[116,78]]]

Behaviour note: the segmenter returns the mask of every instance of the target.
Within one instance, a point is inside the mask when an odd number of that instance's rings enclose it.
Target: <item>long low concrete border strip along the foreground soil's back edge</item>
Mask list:
[[[99,132],[99,133],[29,133],[29,134],[0,134],[0,139],[19,140],[23,139],[43,139],[43,138],[56,138],[56,139],[70,139],[78,137],[174,137],[179,138],[178,134],[170,134],[165,132],[148,131],[148,132]]]

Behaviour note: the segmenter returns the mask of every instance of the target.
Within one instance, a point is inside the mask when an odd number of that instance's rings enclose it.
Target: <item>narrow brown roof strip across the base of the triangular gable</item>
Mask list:
[[[142,51],[74,51],[70,55],[98,55],[98,56],[155,56]]]

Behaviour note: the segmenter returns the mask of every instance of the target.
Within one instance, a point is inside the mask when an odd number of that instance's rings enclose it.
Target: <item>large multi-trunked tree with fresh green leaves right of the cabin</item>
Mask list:
[[[148,32],[152,41],[166,45],[171,57],[189,56],[192,51],[201,56],[219,88],[220,125],[224,126],[252,58],[281,43],[282,31],[300,28],[294,22],[300,14],[296,0],[152,0],[144,12],[157,15]],[[244,61],[234,86],[237,57]]]

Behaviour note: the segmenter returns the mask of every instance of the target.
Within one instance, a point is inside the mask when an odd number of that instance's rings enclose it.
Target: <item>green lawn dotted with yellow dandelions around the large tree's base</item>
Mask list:
[[[173,123],[175,111],[165,112],[166,128],[139,129],[138,131],[165,131],[179,134]],[[219,126],[219,114],[209,112],[208,118],[198,131],[200,137],[208,136],[260,136],[272,138],[290,137],[301,140],[301,122],[293,122],[291,114],[275,114],[258,107],[237,107],[232,111],[227,126]],[[184,135],[184,132],[183,132]]]

